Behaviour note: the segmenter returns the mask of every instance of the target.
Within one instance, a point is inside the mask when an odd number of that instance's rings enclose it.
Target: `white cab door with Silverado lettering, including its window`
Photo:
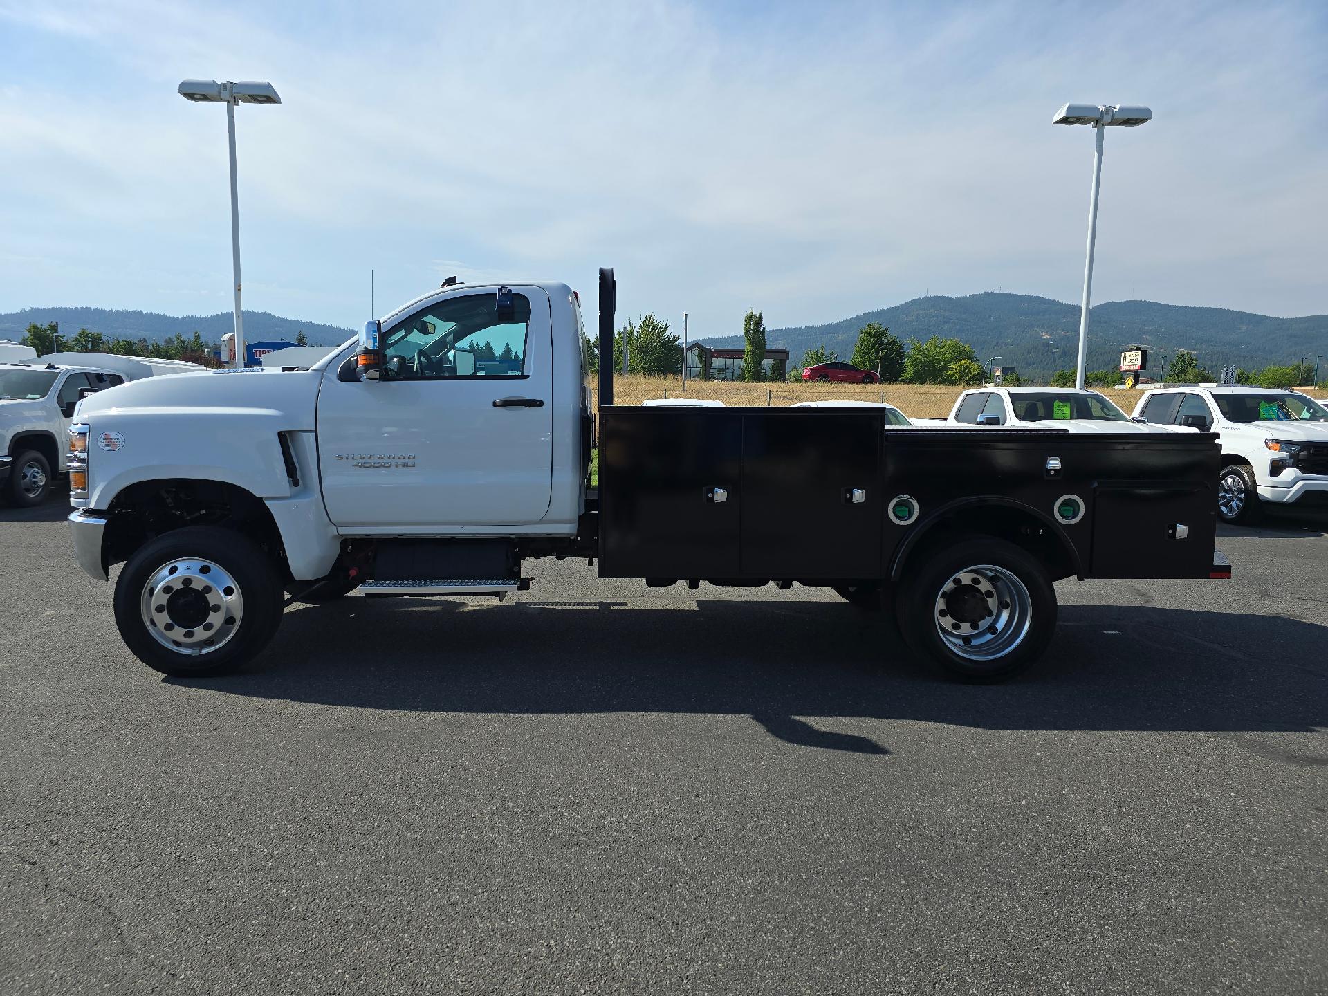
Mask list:
[[[466,288],[381,335],[382,378],[319,392],[323,495],[339,527],[521,526],[548,511],[552,332],[548,296]]]

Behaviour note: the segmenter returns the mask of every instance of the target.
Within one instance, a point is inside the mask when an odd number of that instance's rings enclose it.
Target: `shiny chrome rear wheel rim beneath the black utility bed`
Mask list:
[[[946,647],[989,661],[1019,647],[1033,624],[1033,598],[1011,571],[977,564],[955,571],[936,594],[932,615]]]

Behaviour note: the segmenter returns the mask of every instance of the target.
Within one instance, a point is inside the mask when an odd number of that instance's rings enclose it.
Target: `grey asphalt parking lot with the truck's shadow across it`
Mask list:
[[[1328,989],[1328,537],[1062,583],[936,680],[815,590],[539,562],[291,607],[163,679],[56,501],[0,509],[0,991]]]

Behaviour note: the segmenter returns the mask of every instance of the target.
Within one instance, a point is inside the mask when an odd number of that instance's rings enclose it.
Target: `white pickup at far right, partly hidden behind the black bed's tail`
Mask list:
[[[1220,436],[1218,514],[1251,522],[1264,505],[1328,507],[1328,409],[1293,390],[1157,388],[1135,418]]]

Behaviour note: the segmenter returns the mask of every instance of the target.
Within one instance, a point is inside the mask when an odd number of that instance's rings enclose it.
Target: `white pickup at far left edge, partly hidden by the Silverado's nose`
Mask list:
[[[86,394],[153,371],[120,356],[60,353],[0,363],[0,494],[9,505],[46,501],[66,470],[66,438],[74,406]]]

